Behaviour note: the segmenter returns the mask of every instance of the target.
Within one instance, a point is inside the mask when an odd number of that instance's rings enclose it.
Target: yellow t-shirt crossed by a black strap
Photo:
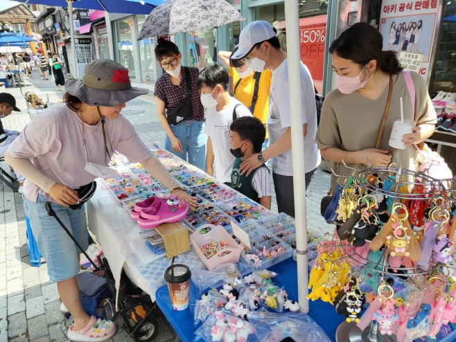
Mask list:
[[[233,66],[229,68],[229,75],[233,80],[233,90],[239,80],[239,74]],[[271,87],[272,73],[269,69],[263,71],[260,76],[260,84],[258,85],[258,99],[256,100],[254,116],[266,125],[269,116],[269,90]],[[234,98],[239,100],[249,108],[252,105],[252,98],[254,96],[255,79],[254,74],[249,77],[242,78]],[[268,138],[268,130],[266,129],[266,138]]]

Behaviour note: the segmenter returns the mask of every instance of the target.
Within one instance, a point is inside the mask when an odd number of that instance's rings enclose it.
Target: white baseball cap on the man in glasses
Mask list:
[[[252,21],[240,33],[238,51],[231,56],[231,60],[244,58],[256,43],[264,42],[275,36],[274,28],[268,21]]]

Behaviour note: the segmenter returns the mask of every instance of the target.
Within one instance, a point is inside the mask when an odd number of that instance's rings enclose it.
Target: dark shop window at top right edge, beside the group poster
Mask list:
[[[432,91],[456,91],[456,5],[444,1],[443,24],[435,62]]]

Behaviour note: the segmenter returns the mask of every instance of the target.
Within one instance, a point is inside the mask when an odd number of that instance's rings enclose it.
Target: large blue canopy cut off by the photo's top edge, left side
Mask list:
[[[18,0],[26,2],[27,0]],[[132,15],[148,15],[164,0],[78,0],[73,2],[73,8],[85,10],[105,10],[109,13],[128,13]],[[65,0],[28,0],[28,4],[68,7]]]

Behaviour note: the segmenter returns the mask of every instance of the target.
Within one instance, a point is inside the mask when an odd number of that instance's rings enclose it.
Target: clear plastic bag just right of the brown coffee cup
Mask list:
[[[203,292],[206,289],[220,287],[222,284],[232,284],[238,278],[242,279],[236,264],[221,264],[213,271],[207,269],[192,269],[191,280]]]

